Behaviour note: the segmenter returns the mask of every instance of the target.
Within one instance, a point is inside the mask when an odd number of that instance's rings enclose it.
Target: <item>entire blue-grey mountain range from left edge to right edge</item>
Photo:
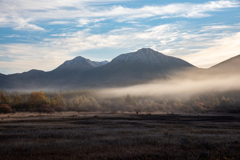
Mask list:
[[[173,76],[178,76],[178,79],[186,78],[187,75],[182,74],[186,70],[191,70],[195,79],[205,75],[239,74],[240,55],[207,70],[198,69],[182,59],[164,55],[151,48],[121,54],[111,62],[95,62],[78,56],[50,72],[33,69],[18,74],[0,74],[0,89],[94,89],[127,86]]]

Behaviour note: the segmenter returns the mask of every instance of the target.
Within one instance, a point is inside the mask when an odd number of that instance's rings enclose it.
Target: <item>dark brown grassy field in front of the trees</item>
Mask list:
[[[239,115],[0,116],[1,159],[240,159]]]

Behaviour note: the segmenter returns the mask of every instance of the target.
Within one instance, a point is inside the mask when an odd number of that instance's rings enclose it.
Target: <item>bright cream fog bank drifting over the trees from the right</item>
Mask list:
[[[187,74],[185,73],[182,75]],[[127,94],[130,94],[131,96],[184,98],[206,92],[222,92],[240,89],[239,75],[201,75],[198,77],[196,77],[197,75],[189,75],[190,74],[188,74],[186,78],[155,80],[147,84],[103,89],[97,91],[97,95],[101,98],[117,98]]]

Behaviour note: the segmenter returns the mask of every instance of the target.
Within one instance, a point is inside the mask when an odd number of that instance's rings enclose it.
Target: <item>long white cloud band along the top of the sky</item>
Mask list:
[[[123,6],[102,6],[101,4],[126,0],[2,0],[0,1],[0,27],[31,29],[43,31],[34,24],[38,21],[52,21],[49,24],[77,22],[76,26],[97,23],[105,19],[117,22],[133,21],[150,17],[160,18],[202,18],[211,16],[209,12],[239,7],[239,2],[230,0],[210,1],[206,3],[174,3],[169,5],[143,6],[128,8]],[[99,5],[97,5],[99,4]]]

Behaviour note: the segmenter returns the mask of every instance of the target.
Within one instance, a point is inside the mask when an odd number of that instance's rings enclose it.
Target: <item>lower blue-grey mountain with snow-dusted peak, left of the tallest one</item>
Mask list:
[[[79,56],[64,62],[56,69],[49,72],[32,69],[28,72],[11,75],[0,74],[0,89],[60,88],[74,79],[75,76],[107,63],[107,61],[95,62]]]

